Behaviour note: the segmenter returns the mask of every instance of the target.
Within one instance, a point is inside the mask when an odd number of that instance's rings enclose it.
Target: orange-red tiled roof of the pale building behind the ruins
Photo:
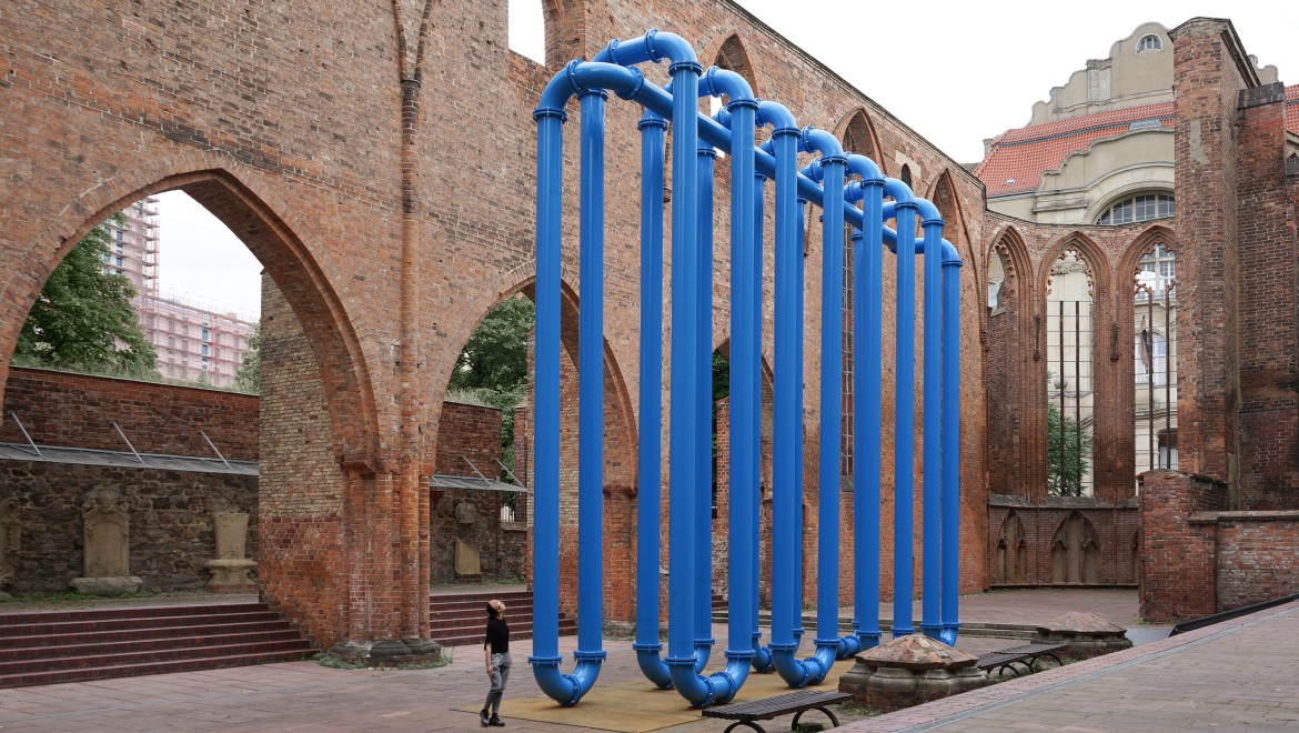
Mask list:
[[[1299,90],[1299,87],[1291,87],[1291,90]],[[1289,94],[1286,99],[1290,99]],[[1295,108],[1293,113],[1299,116],[1299,104],[1291,107]],[[1289,122],[1290,107],[1286,108],[1286,112]],[[1060,168],[1069,153],[1085,151],[1096,140],[1122,135],[1131,129],[1134,122],[1144,121],[1161,127],[1172,127],[1173,103],[1095,112],[1007,130],[992,140],[992,149],[974,169],[974,175],[983,181],[989,196],[1035,191],[1042,181],[1042,172]]]

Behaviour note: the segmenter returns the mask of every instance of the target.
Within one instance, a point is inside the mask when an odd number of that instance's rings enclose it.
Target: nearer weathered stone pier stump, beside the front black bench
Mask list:
[[[839,690],[865,707],[892,712],[987,684],[974,667],[978,658],[921,634],[912,634],[857,655],[839,677]]]

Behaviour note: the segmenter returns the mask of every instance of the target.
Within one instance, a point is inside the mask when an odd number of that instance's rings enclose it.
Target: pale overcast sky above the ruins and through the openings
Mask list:
[[[1295,0],[740,5],[959,162],[982,159],[983,138],[1022,127],[1034,101],[1146,21],[1172,29],[1195,16],[1230,18],[1247,52],[1299,83]],[[540,56],[540,6],[509,0],[511,45],[526,56]],[[255,317],[261,266],[248,250],[183,194],[164,195],[160,209],[162,291]]]

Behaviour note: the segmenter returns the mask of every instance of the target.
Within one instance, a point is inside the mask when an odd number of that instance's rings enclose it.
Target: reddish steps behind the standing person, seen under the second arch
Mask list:
[[[523,589],[523,586],[518,586]],[[482,646],[487,625],[487,602],[505,604],[511,639],[533,638],[531,590],[483,590],[429,595],[429,636],[442,646]],[[577,620],[560,613],[560,636],[577,633]]]

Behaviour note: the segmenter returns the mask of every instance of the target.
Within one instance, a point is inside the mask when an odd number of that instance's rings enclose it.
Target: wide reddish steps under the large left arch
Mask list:
[[[313,651],[265,603],[0,613],[0,689],[288,662]]]

